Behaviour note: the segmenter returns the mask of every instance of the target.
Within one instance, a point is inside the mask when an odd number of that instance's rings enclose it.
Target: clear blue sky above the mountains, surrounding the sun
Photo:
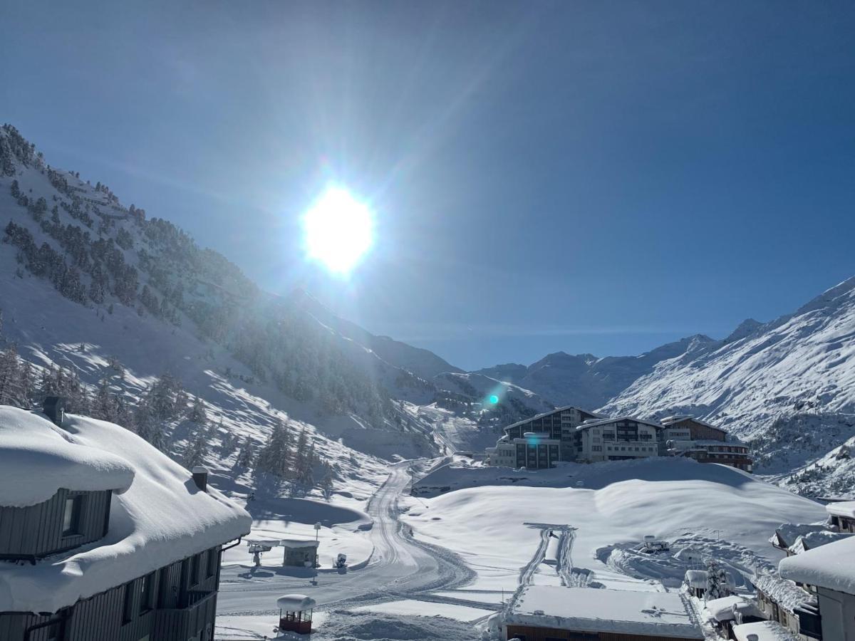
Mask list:
[[[0,120],[463,368],[723,337],[855,274],[852,3],[3,3]],[[376,212],[305,262],[328,181]]]

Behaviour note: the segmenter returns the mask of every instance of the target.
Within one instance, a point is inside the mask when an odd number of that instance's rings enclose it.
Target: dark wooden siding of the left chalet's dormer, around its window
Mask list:
[[[102,538],[107,530],[112,491],[60,489],[43,503],[26,508],[0,507],[0,558],[49,556]],[[80,533],[62,536],[67,498],[82,497]]]

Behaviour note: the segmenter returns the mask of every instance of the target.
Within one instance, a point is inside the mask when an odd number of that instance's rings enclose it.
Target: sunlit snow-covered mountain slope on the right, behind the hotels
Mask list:
[[[839,474],[848,458],[838,449],[855,436],[855,278],[792,315],[746,321],[720,343],[657,363],[599,411],[698,415],[752,439],[760,471],[807,466],[805,490],[827,490],[818,477]],[[823,456],[821,473],[812,462]]]

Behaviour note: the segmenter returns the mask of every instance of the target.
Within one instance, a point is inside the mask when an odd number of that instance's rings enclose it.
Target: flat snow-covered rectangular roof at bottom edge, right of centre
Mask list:
[[[674,592],[527,585],[511,603],[504,621],[583,632],[704,638]]]

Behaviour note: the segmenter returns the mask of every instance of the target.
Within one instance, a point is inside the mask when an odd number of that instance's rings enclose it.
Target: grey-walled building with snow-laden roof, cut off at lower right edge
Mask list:
[[[820,636],[813,638],[855,641],[855,537],[787,557],[778,569],[817,599]]]

